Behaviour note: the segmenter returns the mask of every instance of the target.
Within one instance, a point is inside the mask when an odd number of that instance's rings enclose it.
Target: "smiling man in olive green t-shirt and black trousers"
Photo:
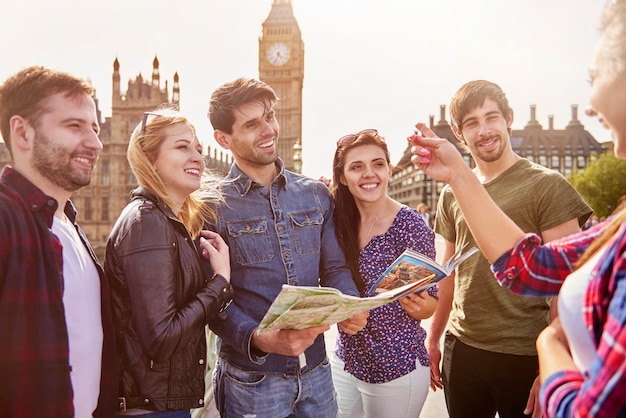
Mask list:
[[[455,136],[476,163],[473,175],[522,230],[544,242],[580,230],[591,208],[560,173],[515,154],[510,140],[513,110],[497,84],[464,84],[451,100],[450,115]],[[444,187],[437,204],[434,229],[445,240],[443,260],[455,249],[475,245],[455,192]],[[483,254],[473,255],[440,281],[439,297],[426,347],[432,387],[443,386],[450,416],[538,414],[535,339],[548,325],[550,301],[498,286]]]

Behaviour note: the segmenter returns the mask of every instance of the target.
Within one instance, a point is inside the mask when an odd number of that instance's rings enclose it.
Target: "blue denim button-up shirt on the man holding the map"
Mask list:
[[[358,296],[335,234],[334,203],[328,187],[284,169],[270,189],[233,164],[222,184],[225,203],[215,230],[230,247],[233,303],[211,329],[219,356],[247,371],[295,374],[298,357],[262,355],[251,350],[252,333],[283,284],[328,286]],[[320,334],[306,351],[308,368],[326,359]]]

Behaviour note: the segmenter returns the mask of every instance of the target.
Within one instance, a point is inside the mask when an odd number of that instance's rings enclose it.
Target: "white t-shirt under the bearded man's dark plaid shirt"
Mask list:
[[[74,416],[92,417],[98,405],[102,368],[100,277],[67,218],[61,220],[55,216],[52,232],[63,245],[63,306],[69,335]]]

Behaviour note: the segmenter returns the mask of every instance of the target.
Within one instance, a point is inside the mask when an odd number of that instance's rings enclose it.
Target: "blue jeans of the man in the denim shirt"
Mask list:
[[[328,359],[295,375],[248,372],[218,360],[215,403],[225,418],[335,418],[337,398]]]

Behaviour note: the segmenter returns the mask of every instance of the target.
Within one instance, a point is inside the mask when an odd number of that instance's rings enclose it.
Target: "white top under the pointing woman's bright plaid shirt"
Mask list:
[[[604,251],[605,249],[596,252],[584,265],[570,273],[559,291],[558,309],[561,326],[567,337],[574,364],[582,373],[589,371],[596,357],[596,345],[583,315],[585,293],[589,286],[591,271],[598,264]]]

